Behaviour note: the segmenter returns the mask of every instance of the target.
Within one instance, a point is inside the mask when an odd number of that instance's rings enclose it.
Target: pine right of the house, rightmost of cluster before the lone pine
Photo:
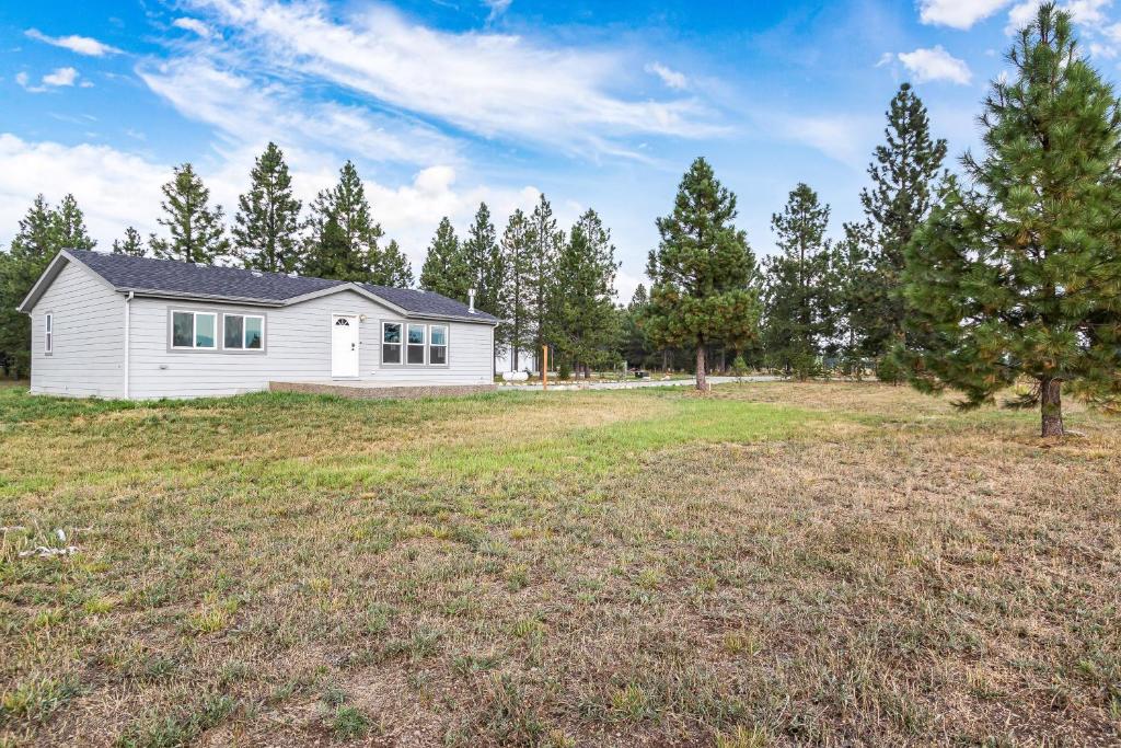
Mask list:
[[[611,232],[595,211],[586,211],[557,257],[552,304],[558,353],[585,378],[591,364],[605,362],[618,335],[618,269]]]

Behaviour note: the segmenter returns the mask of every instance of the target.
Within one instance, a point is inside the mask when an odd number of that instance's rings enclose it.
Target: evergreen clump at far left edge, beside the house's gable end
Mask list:
[[[85,219],[73,195],[52,209],[38,195],[19,222],[19,231],[0,261],[0,359],[17,376],[30,371],[31,323],[17,312],[31,287],[63,249],[93,249]]]

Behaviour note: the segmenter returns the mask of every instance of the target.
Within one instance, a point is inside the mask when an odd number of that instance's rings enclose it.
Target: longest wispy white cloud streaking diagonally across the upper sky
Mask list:
[[[344,24],[330,17],[325,6],[306,1],[195,4],[213,10],[238,34],[234,44],[251,56],[252,66],[341,85],[483,137],[627,154],[615,138],[724,131],[695,100],[632,101],[612,93],[627,70],[614,52],[546,47],[504,34],[441,31],[377,6]]]

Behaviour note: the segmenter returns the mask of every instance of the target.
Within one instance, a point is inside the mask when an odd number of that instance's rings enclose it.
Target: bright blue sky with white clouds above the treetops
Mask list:
[[[36,193],[73,192],[103,249],[156,230],[189,160],[232,212],[272,139],[309,201],[346,158],[419,267],[439,218],[504,221],[539,191],[562,223],[595,207],[622,301],[697,155],[740,200],[760,255],[798,182],[858,218],[900,82],[951,154],[1035,0],[86,0],[0,9],[0,243]],[[1121,9],[1072,0],[1115,79]],[[501,231],[501,225],[499,225]]]

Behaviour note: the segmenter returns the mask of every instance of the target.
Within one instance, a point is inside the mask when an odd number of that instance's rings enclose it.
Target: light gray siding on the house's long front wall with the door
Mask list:
[[[265,353],[168,350],[169,310],[263,314]],[[130,396],[234,395],[266,389],[270,380],[330,380],[332,314],[367,315],[359,327],[359,379],[363,381],[432,385],[492,381],[493,327],[483,324],[447,323],[450,366],[446,368],[382,367],[381,322],[406,321],[353,292],[280,308],[137,298],[131,312]]]

